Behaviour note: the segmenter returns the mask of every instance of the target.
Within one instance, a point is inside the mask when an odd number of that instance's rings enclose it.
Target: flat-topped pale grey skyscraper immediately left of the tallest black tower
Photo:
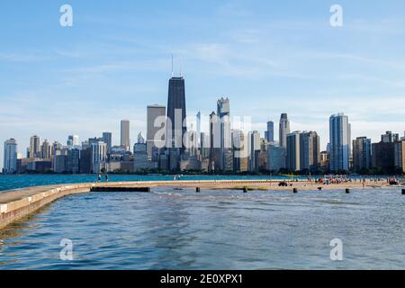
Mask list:
[[[159,138],[157,131],[165,128],[166,106],[148,105],[147,109],[148,109],[147,152],[148,157],[152,157],[152,151],[154,147],[157,148],[165,147],[165,134],[163,133],[162,137]]]

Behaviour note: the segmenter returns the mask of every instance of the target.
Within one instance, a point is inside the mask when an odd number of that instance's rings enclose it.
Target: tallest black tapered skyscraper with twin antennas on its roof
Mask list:
[[[167,97],[167,132],[168,148],[184,148],[183,138],[187,131],[185,123],[185,88],[184,77],[171,77]]]

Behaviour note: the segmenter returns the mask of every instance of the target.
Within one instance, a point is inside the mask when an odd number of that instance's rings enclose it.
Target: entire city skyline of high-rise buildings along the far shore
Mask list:
[[[119,146],[112,145],[109,131],[81,145],[77,135],[69,135],[66,145],[57,140],[50,144],[48,139],[40,144],[40,136],[33,135],[24,157],[18,153],[16,139],[6,139],[3,173],[405,172],[405,132],[400,137],[387,130],[376,143],[365,136],[352,139],[349,117],[339,112],[329,117],[329,143],[321,151],[318,132],[291,131],[285,112],[280,116],[278,141],[273,121],[266,122],[263,135],[252,130],[250,118],[237,116],[232,121],[229,97],[221,97],[216,113],[212,111],[204,121],[200,111],[195,121],[187,120],[184,77],[172,73],[168,83],[167,112],[164,105],[147,106],[147,139],[139,131],[132,151],[129,120],[121,120]]]

